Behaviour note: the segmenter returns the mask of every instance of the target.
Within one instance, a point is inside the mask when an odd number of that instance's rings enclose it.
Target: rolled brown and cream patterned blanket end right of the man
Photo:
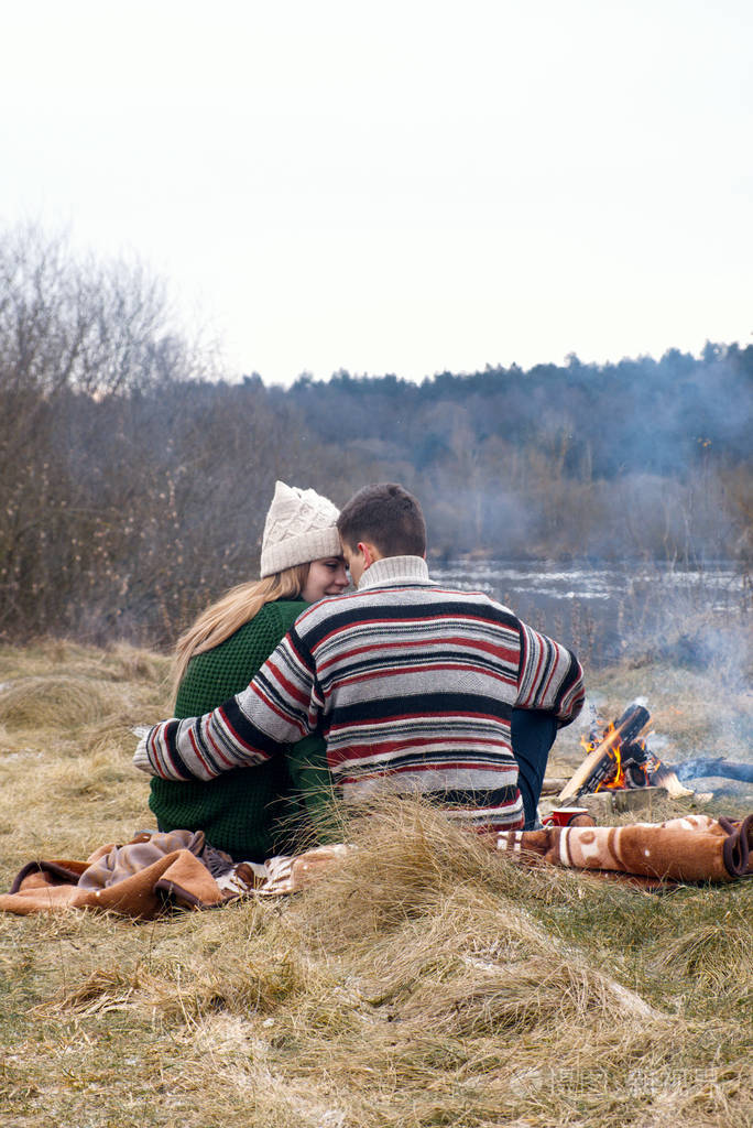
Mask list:
[[[753,874],[753,816],[693,814],[624,827],[503,830],[497,849],[528,864],[611,871],[659,881],[735,881]]]

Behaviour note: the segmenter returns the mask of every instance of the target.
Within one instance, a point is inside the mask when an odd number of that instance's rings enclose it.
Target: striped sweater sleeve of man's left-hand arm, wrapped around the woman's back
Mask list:
[[[309,735],[318,705],[311,654],[291,629],[247,689],[204,716],[156,724],[133,763],[162,779],[213,779]]]

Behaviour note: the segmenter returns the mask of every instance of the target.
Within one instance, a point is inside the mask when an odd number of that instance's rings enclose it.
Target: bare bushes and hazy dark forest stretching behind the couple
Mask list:
[[[141,267],[0,236],[0,637],[167,646],[255,574],[274,482],[397,479],[452,557],[750,563],[753,346],[411,384],[232,378]]]

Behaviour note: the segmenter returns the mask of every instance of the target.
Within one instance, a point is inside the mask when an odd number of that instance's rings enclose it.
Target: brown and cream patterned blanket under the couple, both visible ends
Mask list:
[[[644,888],[753,875],[753,814],[736,822],[693,814],[624,827],[503,830],[490,840],[497,851],[525,865],[588,870]],[[320,846],[296,857],[273,857],[263,865],[233,864],[206,844],[201,830],[144,832],[124,846],[101,846],[86,862],[29,862],[10,892],[0,896],[0,910],[25,915],[88,908],[148,920],[171,907],[205,909],[251,893],[298,892],[349,848]]]

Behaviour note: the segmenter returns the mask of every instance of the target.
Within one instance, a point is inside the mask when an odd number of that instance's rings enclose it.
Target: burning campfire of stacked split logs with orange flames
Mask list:
[[[586,757],[560,791],[560,802],[602,791],[646,787],[663,787],[674,796],[692,794],[649,750],[647,738],[641,737],[649,721],[648,710],[634,702],[619,720],[601,730],[594,726],[581,741]]]

